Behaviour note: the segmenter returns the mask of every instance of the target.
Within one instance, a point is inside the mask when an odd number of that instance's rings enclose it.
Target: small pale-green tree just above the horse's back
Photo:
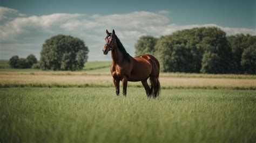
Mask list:
[[[157,43],[157,38],[154,38],[150,35],[144,35],[139,38],[139,40],[135,44],[135,54],[153,54],[154,46]]]

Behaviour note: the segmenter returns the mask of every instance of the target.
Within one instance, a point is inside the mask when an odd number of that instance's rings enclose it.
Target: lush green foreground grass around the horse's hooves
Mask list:
[[[255,142],[256,91],[2,88],[0,142]]]

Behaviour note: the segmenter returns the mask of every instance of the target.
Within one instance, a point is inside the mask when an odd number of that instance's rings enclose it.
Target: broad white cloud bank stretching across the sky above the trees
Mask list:
[[[1,12],[1,10],[5,12]],[[0,25],[0,42],[4,43],[0,45],[0,50],[1,58],[4,59],[18,54],[14,53],[14,48],[17,48],[19,54],[22,54],[22,51],[24,51],[24,56],[30,54],[25,49],[35,49],[31,51],[37,51],[34,54],[39,55],[38,53],[41,51],[42,44],[46,38],[56,34],[70,34],[83,39],[86,45],[89,46],[89,60],[110,60],[110,56],[103,55],[101,49],[104,45],[105,30],[109,29],[109,31],[112,31],[113,28],[126,47],[127,52],[131,55],[134,54],[136,40],[141,35],[146,34],[160,37],[160,35],[171,34],[186,28],[217,26],[227,34],[248,33],[256,35],[256,30],[253,28],[232,28],[216,24],[177,25],[170,22],[170,19],[166,16],[170,11],[165,10],[158,12],[134,11],[125,14],[92,16],[79,13],[53,13],[44,16],[24,17],[17,10],[0,7],[0,19],[1,16],[5,16],[2,13],[6,13],[6,11],[7,13],[12,12],[20,16],[14,19],[5,18],[8,20],[3,25]],[[17,47],[17,45],[19,46]],[[9,50],[12,46],[14,48]],[[6,52],[8,50],[9,52]]]

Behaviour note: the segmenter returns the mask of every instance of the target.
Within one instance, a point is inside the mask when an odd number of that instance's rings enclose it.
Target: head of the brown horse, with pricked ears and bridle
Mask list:
[[[102,51],[106,55],[109,51],[113,49],[114,44],[116,43],[116,38],[114,38],[114,30],[112,33],[109,33],[109,31],[106,30],[106,38],[105,42],[106,44],[104,45]]]

